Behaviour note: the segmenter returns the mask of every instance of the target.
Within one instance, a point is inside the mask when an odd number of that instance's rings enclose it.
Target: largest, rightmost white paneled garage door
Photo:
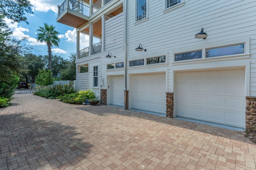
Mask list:
[[[176,73],[178,117],[244,127],[244,69]]]

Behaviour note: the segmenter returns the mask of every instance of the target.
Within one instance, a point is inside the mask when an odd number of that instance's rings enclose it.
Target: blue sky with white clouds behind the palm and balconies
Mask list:
[[[60,43],[59,47],[52,47],[52,55],[58,55],[64,59],[68,59],[71,53],[76,52],[76,29],[64,24],[56,22],[58,16],[58,5],[61,5],[64,0],[30,0],[33,5],[34,14],[26,14],[27,21],[22,23],[11,23],[6,20],[9,28],[12,30],[12,36],[16,39],[26,37],[27,40],[22,42],[22,45],[32,47],[31,53],[36,55],[48,55],[47,46],[45,43],[37,42],[36,34],[39,27],[44,27],[44,23],[55,26],[58,31]],[[80,35],[80,49],[89,46],[89,36]]]

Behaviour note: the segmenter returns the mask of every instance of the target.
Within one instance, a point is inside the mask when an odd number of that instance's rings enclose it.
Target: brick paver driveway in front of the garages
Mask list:
[[[244,132],[16,93],[0,109],[0,169],[255,169]]]

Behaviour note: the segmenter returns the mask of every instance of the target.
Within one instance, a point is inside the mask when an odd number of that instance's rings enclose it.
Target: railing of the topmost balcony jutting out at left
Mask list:
[[[62,14],[66,9],[71,9],[85,16],[90,16],[90,7],[76,0],[65,0],[60,6],[58,6],[58,15]]]

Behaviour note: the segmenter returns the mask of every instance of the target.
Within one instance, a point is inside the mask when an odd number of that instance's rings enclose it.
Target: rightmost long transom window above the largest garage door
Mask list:
[[[244,53],[244,44],[206,49],[206,57],[216,57],[221,55],[232,55],[241,53]]]

